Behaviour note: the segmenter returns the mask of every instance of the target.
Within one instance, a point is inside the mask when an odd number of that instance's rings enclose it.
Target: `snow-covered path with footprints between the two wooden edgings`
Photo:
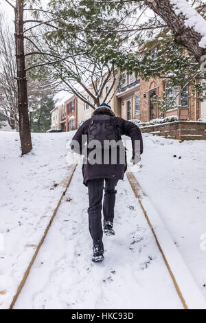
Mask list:
[[[91,263],[87,205],[78,166],[14,309],[182,309],[128,180],[102,264]]]

